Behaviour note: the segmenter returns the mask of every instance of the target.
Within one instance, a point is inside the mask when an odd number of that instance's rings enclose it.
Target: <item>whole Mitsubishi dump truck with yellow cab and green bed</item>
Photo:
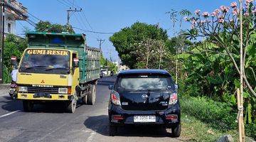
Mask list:
[[[18,65],[17,99],[24,111],[34,104],[63,102],[75,112],[78,99],[95,104],[100,78],[100,50],[86,44],[84,34],[26,33],[28,48]]]

